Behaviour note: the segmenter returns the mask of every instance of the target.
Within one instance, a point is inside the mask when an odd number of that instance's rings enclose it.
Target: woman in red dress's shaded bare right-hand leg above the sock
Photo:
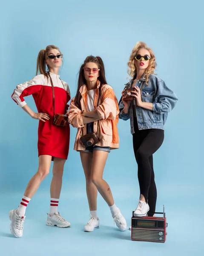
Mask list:
[[[64,164],[66,160],[62,158],[55,157],[52,169],[52,182],[50,186],[50,197],[60,198],[60,192],[62,188],[62,176],[64,170]]]

